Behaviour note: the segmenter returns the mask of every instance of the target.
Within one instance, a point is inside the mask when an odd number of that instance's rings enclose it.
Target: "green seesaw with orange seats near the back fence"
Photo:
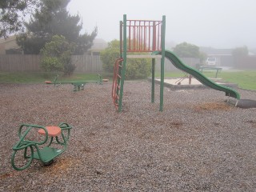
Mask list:
[[[74,91],[79,91],[79,90],[84,90],[84,87],[87,83],[98,83],[100,85],[102,85],[103,81],[107,81],[106,79],[102,79],[102,75],[97,74],[98,76],[98,81],[74,81],[74,82],[58,82],[58,75],[56,75],[56,77],[54,78],[53,82],[50,81],[45,81],[46,84],[53,84],[55,87],[60,86],[62,84],[71,84],[74,86]]]

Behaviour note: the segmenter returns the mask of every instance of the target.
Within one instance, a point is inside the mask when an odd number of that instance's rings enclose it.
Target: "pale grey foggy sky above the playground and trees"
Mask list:
[[[97,38],[119,39],[119,21],[162,20],[166,15],[166,45],[256,48],[256,0],[71,0],[67,10],[82,17],[83,30],[98,26]]]

